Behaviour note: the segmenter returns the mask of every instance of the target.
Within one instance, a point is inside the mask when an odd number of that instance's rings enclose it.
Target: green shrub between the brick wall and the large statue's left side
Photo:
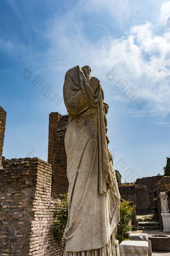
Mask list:
[[[67,204],[67,193],[60,195],[62,197],[60,203],[60,209],[57,213],[57,218],[53,224],[54,233],[57,241],[60,243],[64,242],[63,233],[66,227],[66,222],[68,218],[68,204]]]

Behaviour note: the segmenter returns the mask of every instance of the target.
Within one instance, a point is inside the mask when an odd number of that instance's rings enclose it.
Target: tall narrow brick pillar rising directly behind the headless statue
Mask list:
[[[64,194],[68,189],[64,136],[68,115],[49,114],[48,162],[52,166],[52,197]]]

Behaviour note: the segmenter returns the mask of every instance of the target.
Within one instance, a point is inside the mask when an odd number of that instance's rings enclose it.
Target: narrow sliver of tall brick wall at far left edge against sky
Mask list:
[[[1,168],[1,159],[2,159],[2,151],[3,151],[5,123],[6,123],[6,112],[2,107],[0,107],[0,168]]]

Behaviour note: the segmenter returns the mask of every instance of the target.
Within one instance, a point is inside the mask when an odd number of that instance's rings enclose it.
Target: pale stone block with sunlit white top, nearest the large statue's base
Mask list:
[[[119,245],[120,256],[148,256],[147,241],[122,241]]]

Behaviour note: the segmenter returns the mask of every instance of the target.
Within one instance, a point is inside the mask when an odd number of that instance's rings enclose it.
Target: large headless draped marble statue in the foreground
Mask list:
[[[69,114],[64,141],[69,182],[66,256],[115,255],[120,196],[107,146],[108,105],[100,81],[90,72],[88,66],[69,69],[63,85]]]

